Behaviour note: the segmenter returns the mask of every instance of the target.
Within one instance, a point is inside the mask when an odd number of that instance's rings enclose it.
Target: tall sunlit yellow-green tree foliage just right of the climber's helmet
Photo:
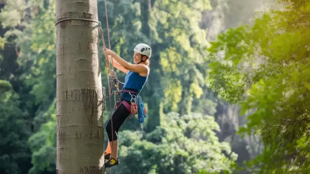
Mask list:
[[[154,68],[161,71],[164,111],[189,113],[193,111],[193,100],[200,99],[207,90],[200,69],[206,65],[202,58],[208,42],[201,39],[206,32],[200,29],[199,22],[202,12],[209,9],[209,0],[156,0],[152,7],[151,33],[158,47],[163,47],[154,48],[155,56],[160,58],[159,66]]]

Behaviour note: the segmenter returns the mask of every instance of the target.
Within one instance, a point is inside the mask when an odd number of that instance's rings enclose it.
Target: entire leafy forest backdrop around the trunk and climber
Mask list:
[[[121,128],[114,174],[310,171],[308,0],[107,7],[112,50],[131,62],[138,43],[153,49],[141,92],[147,118]],[[0,173],[55,174],[55,0],[0,0],[0,9]],[[103,116],[106,124],[109,102]]]

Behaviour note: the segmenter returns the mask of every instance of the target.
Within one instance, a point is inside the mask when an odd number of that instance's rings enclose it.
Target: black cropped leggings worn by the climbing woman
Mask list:
[[[126,102],[130,104],[129,101],[126,101]],[[129,114],[130,112],[121,102],[121,104],[116,108],[116,110],[112,114],[113,130],[112,130],[111,118],[109,119],[107,126],[106,126],[106,131],[108,133],[109,142],[112,142],[112,133],[113,133],[113,141],[117,140],[118,130],[123,125],[124,121],[129,116]]]

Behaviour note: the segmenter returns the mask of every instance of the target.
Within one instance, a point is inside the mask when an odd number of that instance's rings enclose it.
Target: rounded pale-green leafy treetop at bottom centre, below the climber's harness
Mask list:
[[[219,131],[219,127],[214,117],[201,113],[180,116],[171,112],[164,118],[162,126],[150,133],[127,130],[119,133],[120,157],[124,162],[114,169],[117,173],[193,174],[201,171],[202,174],[218,174],[230,171],[237,155],[227,142],[218,142],[215,131]]]

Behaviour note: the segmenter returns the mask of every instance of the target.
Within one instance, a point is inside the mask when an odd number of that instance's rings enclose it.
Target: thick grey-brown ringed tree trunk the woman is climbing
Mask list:
[[[96,21],[97,0],[56,0],[57,174],[105,173]]]

